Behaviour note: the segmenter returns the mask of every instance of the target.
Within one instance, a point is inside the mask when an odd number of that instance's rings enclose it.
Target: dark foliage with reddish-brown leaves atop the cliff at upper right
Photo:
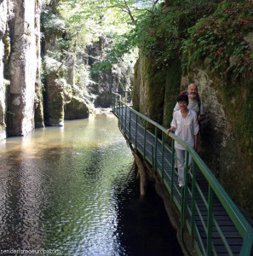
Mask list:
[[[224,1],[214,15],[199,20],[182,47],[184,73],[205,58],[210,72],[221,77],[232,74],[238,79],[252,72],[252,52],[244,42],[244,35],[253,30],[252,9],[251,1]]]

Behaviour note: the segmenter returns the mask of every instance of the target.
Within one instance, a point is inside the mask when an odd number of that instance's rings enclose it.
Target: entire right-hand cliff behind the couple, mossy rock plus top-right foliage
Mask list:
[[[170,127],[176,96],[181,90],[187,89],[187,84],[198,84],[198,92],[204,102],[206,114],[206,119],[200,128],[198,154],[216,175],[233,201],[244,212],[253,216],[251,170],[253,164],[253,73],[250,66],[253,52],[253,27],[250,26],[252,24],[249,20],[250,15],[247,15],[248,9],[252,9],[253,5],[252,2],[245,1],[245,5],[234,3],[234,6],[239,6],[240,13],[246,14],[245,18],[243,15],[237,17],[238,11],[234,11],[230,3],[223,1],[214,15],[212,13],[209,18],[194,27],[192,41],[187,38],[180,43],[191,47],[187,52],[188,62],[181,55],[177,55],[167,60],[164,68],[161,69],[157,64],[156,55],[141,54],[135,65],[132,96],[135,109],[159,124]],[[168,9],[164,9],[164,14],[166,12]],[[230,15],[229,17],[233,16],[234,22],[239,22],[239,32],[233,33],[238,37],[236,44],[229,41],[233,40],[230,38],[229,31],[224,37],[218,32],[218,29],[223,26],[231,26],[222,16],[224,13]],[[159,26],[158,24],[160,35]],[[211,30],[209,31],[208,28]],[[152,32],[153,30],[154,27]],[[210,34],[210,38],[207,34]],[[162,40],[167,42],[166,35],[164,32],[164,38],[158,38],[159,44]],[[217,38],[221,40],[222,47],[216,49]],[[195,44],[195,42],[204,44],[205,48],[199,49],[198,43]],[[203,51],[206,49],[210,49],[210,52]],[[226,52],[226,49],[229,50]],[[209,65],[210,55],[214,60],[212,68]],[[182,61],[185,62],[182,63]],[[243,67],[244,63],[248,66]],[[188,67],[185,74],[183,74],[183,66]],[[236,73],[239,75],[236,76]]]

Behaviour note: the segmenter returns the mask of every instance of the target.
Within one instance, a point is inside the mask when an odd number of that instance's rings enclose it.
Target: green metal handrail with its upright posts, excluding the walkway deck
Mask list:
[[[142,113],[137,112],[135,109],[130,108],[128,106],[127,103],[122,101],[122,97],[120,94],[116,93],[116,92],[112,92],[115,96],[117,96],[118,101],[116,102],[117,104],[119,104],[119,107],[122,108],[122,112],[120,113],[120,109],[118,112],[118,106],[114,106],[114,109],[117,109],[116,112],[119,113],[119,115],[121,116],[121,118],[123,118],[123,108],[129,108],[129,113],[135,113],[136,117],[138,116],[139,118],[141,118],[142,120],[147,121],[149,124],[154,125],[155,127],[155,134],[152,136],[155,137],[155,148],[152,148],[152,151],[155,152],[155,158],[152,160],[153,163],[153,167],[156,171],[157,169],[157,142],[158,140],[161,141],[158,138],[158,130],[162,131],[162,134],[166,134],[167,130],[164,128],[164,126],[159,125],[157,122],[153,121],[152,119],[147,118],[147,116],[145,116]],[[119,119],[119,118],[118,118]],[[126,119],[126,116],[125,116]],[[123,121],[123,120],[121,120]],[[130,127],[130,115],[129,115],[129,127]],[[126,120],[125,120],[126,122]],[[135,128],[135,146],[136,146],[136,137],[137,137],[137,119],[135,120],[136,122],[136,128]],[[146,134],[146,125],[145,125],[145,134]],[[144,136],[146,137],[146,135]],[[212,206],[212,201],[213,201],[213,195],[216,195],[217,198],[219,199],[219,201],[221,202],[222,207],[225,209],[225,211],[227,212],[227,215],[231,218],[231,220],[233,221],[233,224],[235,225],[236,229],[239,231],[240,236],[244,239],[244,243],[243,246],[241,247],[241,252],[240,255],[250,255],[250,251],[252,248],[252,244],[253,244],[253,229],[250,226],[250,224],[247,222],[247,220],[244,218],[244,215],[239,211],[239,208],[233,203],[233,201],[231,200],[231,198],[229,197],[229,195],[227,195],[227,192],[223,189],[223,187],[221,186],[221,184],[216,180],[216,177],[213,175],[213,173],[210,171],[209,167],[205,165],[204,161],[199,157],[199,155],[197,154],[197,152],[190,146],[187,145],[187,143],[184,143],[183,141],[181,141],[180,138],[176,137],[175,134],[171,133],[169,134],[169,137],[172,139],[172,151],[171,151],[171,156],[172,156],[172,163],[174,162],[174,142],[180,143],[182,147],[186,148],[187,150],[187,154],[190,154],[193,158],[193,166],[194,169],[196,168],[196,166],[198,166],[199,171],[204,175],[206,181],[209,184],[209,195],[208,195],[208,199],[206,199],[206,202],[208,203],[207,209],[208,209],[208,223],[206,226],[204,226],[204,230],[206,230],[206,235],[207,235],[207,247],[204,251],[204,254],[206,255],[210,255],[211,250],[213,249],[212,243],[211,243],[211,229],[212,229],[212,223],[215,223],[217,225],[216,220],[214,219],[213,216],[213,206]],[[130,139],[130,130],[129,130],[129,139]],[[146,139],[146,138],[145,138]],[[164,135],[162,135],[162,144],[164,145]],[[146,145],[146,143],[145,143]],[[164,146],[163,146],[164,147]],[[162,149],[164,150],[164,149]],[[144,150],[145,151],[145,150]],[[145,152],[143,153],[144,157],[145,157]],[[163,153],[163,160],[162,162],[164,162],[164,153]],[[172,165],[172,172],[174,172],[174,164]],[[163,164],[162,164],[163,166]],[[186,169],[188,165],[186,164]],[[164,166],[163,166],[164,168]],[[187,172],[187,171],[186,171]],[[161,176],[164,179],[164,170],[161,170]],[[187,176],[188,174],[186,174],[186,183],[187,183]],[[173,180],[171,180],[171,183],[173,183]],[[197,184],[197,181],[193,181],[193,183]],[[170,196],[173,195],[173,188],[174,186],[171,186],[171,191],[170,192]],[[194,192],[194,191],[193,191]],[[192,196],[194,195],[194,193],[192,193]],[[204,196],[202,194],[202,196]],[[179,209],[181,211],[181,223],[185,223],[186,221],[186,212],[188,210],[188,212],[193,216],[194,215],[194,207],[192,205],[192,210],[189,210],[189,208],[187,208],[187,204],[186,204],[186,200],[187,200],[187,189],[183,189],[182,192],[182,196],[181,196],[181,209]],[[205,204],[206,204],[205,202]],[[194,202],[194,198],[192,198],[192,204],[195,203]],[[177,207],[179,207],[179,205],[177,204]],[[199,213],[199,212],[198,212]],[[191,228],[190,228],[190,233],[191,235],[193,235],[193,229],[195,229],[196,227],[194,226],[194,221],[193,219],[190,219],[189,222],[191,223]],[[181,227],[181,232],[182,232],[182,227]],[[222,238],[222,234],[221,234],[221,238]],[[223,239],[224,240],[224,239]],[[224,240],[226,243],[226,239]],[[201,242],[202,243],[202,242]],[[202,245],[203,246],[203,245]],[[229,247],[229,245],[225,244],[225,247]],[[228,250],[229,251],[229,250]]]

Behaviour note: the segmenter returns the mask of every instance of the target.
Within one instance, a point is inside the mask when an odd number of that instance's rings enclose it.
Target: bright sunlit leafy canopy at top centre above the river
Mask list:
[[[112,67],[139,41],[135,30],[156,11],[159,0],[49,0],[47,4],[65,21],[66,48],[75,51],[107,38],[107,51],[95,70]],[[146,40],[146,38],[143,38]]]

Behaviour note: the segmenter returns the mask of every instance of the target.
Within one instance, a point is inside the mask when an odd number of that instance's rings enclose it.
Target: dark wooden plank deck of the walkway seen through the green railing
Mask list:
[[[129,108],[115,108],[113,113],[118,117],[119,129],[123,132],[124,137],[132,143],[139,153],[151,164],[153,170],[158,173],[162,182],[170,192],[171,185],[174,191],[175,205],[181,212],[182,191],[177,184],[177,176],[174,175],[171,183],[171,150],[166,144],[163,149],[161,140],[155,138],[150,131],[145,131],[141,119],[130,113]],[[130,120],[130,121],[129,121]],[[145,143],[146,142],[146,143]],[[157,152],[155,144],[157,143]],[[164,159],[163,159],[164,151]],[[164,173],[163,173],[164,172]],[[188,182],[187,189],[187,207],[185,210],[185,224],[189,233],[193,235],[193,245],[198,254],[207,255],[207,233],[208,233],[208,204],[209,185],[201,172],[196,174],[196,186],[192,188],[192,183]],[[194,193],[194,200],[192,195]],[[194,209],[193,209],[194,207]],[[213,197],[212,205],[212,224],[211,224],[211,254],[210,255],[239,255],[244,239],[240,236],[239,231],[228,216],[221,202],[216,195]],[[194,212],[193,214],[191,212]],[[191,221],[193,215],[193,221]],[[194,224],[194,225],[193,225]],[[193,232],[194,230],[194,232]],[[226,245],[227,243],[227,245]]]

